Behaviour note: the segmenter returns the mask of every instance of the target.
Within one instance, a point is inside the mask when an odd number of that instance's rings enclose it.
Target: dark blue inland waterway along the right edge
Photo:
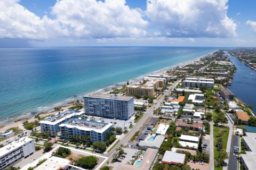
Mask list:
[[[228,89],[231,90],[235,96],[239,100],[243,101],[246,105],[252,106],[255,115],[256,72],[249,66],[239,61],[235,56],[230,56],[230,60],[235,64],[237,70],[233,77],[233,83],[231,86],[228,86]]]

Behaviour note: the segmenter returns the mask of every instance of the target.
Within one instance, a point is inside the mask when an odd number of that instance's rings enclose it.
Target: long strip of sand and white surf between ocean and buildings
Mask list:
[[[212,54],[214,52],[216,52],[217,50],[214,50],[213,52],[210,52],[210,53],[207,53],[207,54]],[[204,55],[201,55],[201,56],[198,56],[196,58],[194,58],[193,60],[189,60],[189,61],[185,61],[185,62],[181,62],[179,64],[175,64],[175,65],[172,65],[172,66],[168,66],[168,67],[164,67],[163,69],[160,69],[160,70],[156,70],[156,71],[151,71],[147,74],[143,74],[143,75],[140,75],[139,77],[137,78],[134,78],[134,79],[130,79],[128,80],[129,83],[132,83],[132,84],[136,84],[136,83],[139,83],[139,81],[141,81],[141,79],[143,77],[146,77],[146,75],[149,75],[149,74],[162,74],[162,73],[166,73],[167,70],[170,70],[170,69],[173,69],[174,67],[178,67],[178,66],[183,66],[183,65],[187,65],[191,62],[195,62],[195,61],[198,61],[198,60],[201,60],[201,58],[207,54],[204,54]],[[114,88],[121,88],[123,84],[126,84],[126,81],[125,82],[119,82],[119,83],[115,83],[115,84],[112,84],[112,85],[108,85],[107,87],[105,88],[101,88],[99,90],[95,90],[95,91],[92,91],[92,92],[89,92],[87,94],[91,94],[91,93],[103,93],[103,94],[108,94],[110,91],[113,91]],[[41,108],[50,108],[49,111],[42,111],[42,112],[28,112],[28,113],[25,113],[25,114],[17,114],[17,115],[14,115],[14,116],[11,116],[11,117],[8,117],[8,118],[3,118],[3,119],[0,119],[0,123],[1,123],[1,126],[0,126],[0,132],[4,132],[5,130],[7,129],[10,129],[10,128],[14,128],[14,127],[19,127],[20,129],[23,129],[23,126],[22,126],[22,122],[27,120],[27,121],[35,121],[37,120],[37,118],[35,118],[35,116],[37,114],[39,115],[44,115],[44,116],[49,116],[49,115],[52,115],[52,114],[57,114],[57,112],[54,111],[54,107],[59,107],[61,105],[58,105],[58,104],[63,104],[63,107],[61,108],[63,111],[66,111],[69,107],[73,106],[72,104],[67,104],[72,102],[72,101],[76,101],[77,99],[78,100],[81,100],[82,99],[82,96],[84,95],[87,95],[87,94],[78,94],[78,95],[74,95],[74,99],[63,99],[61,100],[60,102],[56,103],[56,104],[53,104],[51,106],[46,106],[46,107],[41,107]],[[39,107],[38,107],[39,108]],[[38,109],[37,108],[37,109]],[[42,109],[41,109],[42,110]],[[39,110],[40,111],[40,110]],[[18,117],[17,117],[18,116]],[[44,116],[41,116],[41,117],[44,117]]]

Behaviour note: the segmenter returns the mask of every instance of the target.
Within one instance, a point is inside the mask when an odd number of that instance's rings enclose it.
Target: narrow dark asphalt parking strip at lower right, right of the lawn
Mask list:
[[[234,151],[234,147],[239,147],[239,135],[232,135],[231,146],[229,151],[228,170],[234,170],[238,168],[238,156]],[[239,152],[236,151],[236,152]]]

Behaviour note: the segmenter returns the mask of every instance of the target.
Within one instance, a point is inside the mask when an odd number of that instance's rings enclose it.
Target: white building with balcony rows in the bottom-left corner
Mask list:
[[[20,138],[0,148],[0,170],[12,166],[35,152],[34,139]]]

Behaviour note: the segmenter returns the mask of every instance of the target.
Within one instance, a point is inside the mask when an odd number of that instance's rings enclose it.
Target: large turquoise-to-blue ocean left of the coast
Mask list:
[[[217,47],[0,49],[0,123],[139,80]]]

